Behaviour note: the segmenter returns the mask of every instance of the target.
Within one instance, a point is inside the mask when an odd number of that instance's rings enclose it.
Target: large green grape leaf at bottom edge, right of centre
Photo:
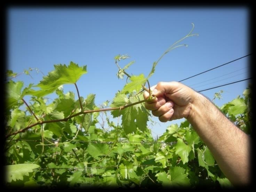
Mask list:
[[[172,185],[180,185],[186,186],[190,185],[189,179],[185,174],[185,169],[179,166],[171,167],[170,168],[170,176],[171,176],[171,184]]]

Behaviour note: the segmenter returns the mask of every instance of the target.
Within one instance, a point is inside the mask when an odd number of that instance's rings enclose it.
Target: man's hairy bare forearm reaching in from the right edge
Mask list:
[[[231,183],[248,184],[249,136],[200,94],[195,94],[187,119]]]

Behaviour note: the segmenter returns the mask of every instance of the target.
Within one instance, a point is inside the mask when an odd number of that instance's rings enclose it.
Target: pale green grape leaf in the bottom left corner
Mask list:
[[[23,180],[23,176],[29,176],[29,173],[33,172],[33,169],[39,168],[36,164],[16,164],[7,165],[6,168],[6,179],[7,182],[16,180]]]

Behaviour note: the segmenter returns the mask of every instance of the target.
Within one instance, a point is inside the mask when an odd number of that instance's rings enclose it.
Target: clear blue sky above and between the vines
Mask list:
[[[179,81],[191,75],[250,54],[249,12],[246,8],[9,8],[7,69],[20,73],[38,68],[45,75],[54,64],[87,65],[88,73],[77,85],[80,95],[96,94],[96,104],[111,101],[125,85],[117,78],[114,56],[128,54],[124,66],[135,61],[127,72],[147,75],[152,63],[174,42],[184,37],[194,23],[194,33],[179,47],[165,55],[150,79]],[[250,56],[249,56],[250,57]],[[195,90],[207,89],[249,77],[249,57],[183,81]],[[229,74],[228,74],[229,73]],[[20,75],[16,80],[37,84],[41,73]],[[222,77],[219,77],[222,76]],[[212,79],[212,80],[210,80]],[[199,84],[197,84],[199,83]],[[196,85],[194,85],[196,84]],[[207,84],[207,85],[206,85]],[[212,99],[223,90],[218,106],[231,101],[248,86],[248,81],[202,92]],[[64,92],[74,91],[65,85]],[[54,98],[54,95],[52,96]],[[26,98],[29,99],[29,98]],[[150,127],[160,136],[171,123]]]

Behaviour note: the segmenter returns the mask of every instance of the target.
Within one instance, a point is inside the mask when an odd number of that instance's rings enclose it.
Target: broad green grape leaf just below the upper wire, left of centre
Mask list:
[[[105,143],[90,143],[86,151],[93,157],[96,158],[101,155],[109,153],[109,146]]]

